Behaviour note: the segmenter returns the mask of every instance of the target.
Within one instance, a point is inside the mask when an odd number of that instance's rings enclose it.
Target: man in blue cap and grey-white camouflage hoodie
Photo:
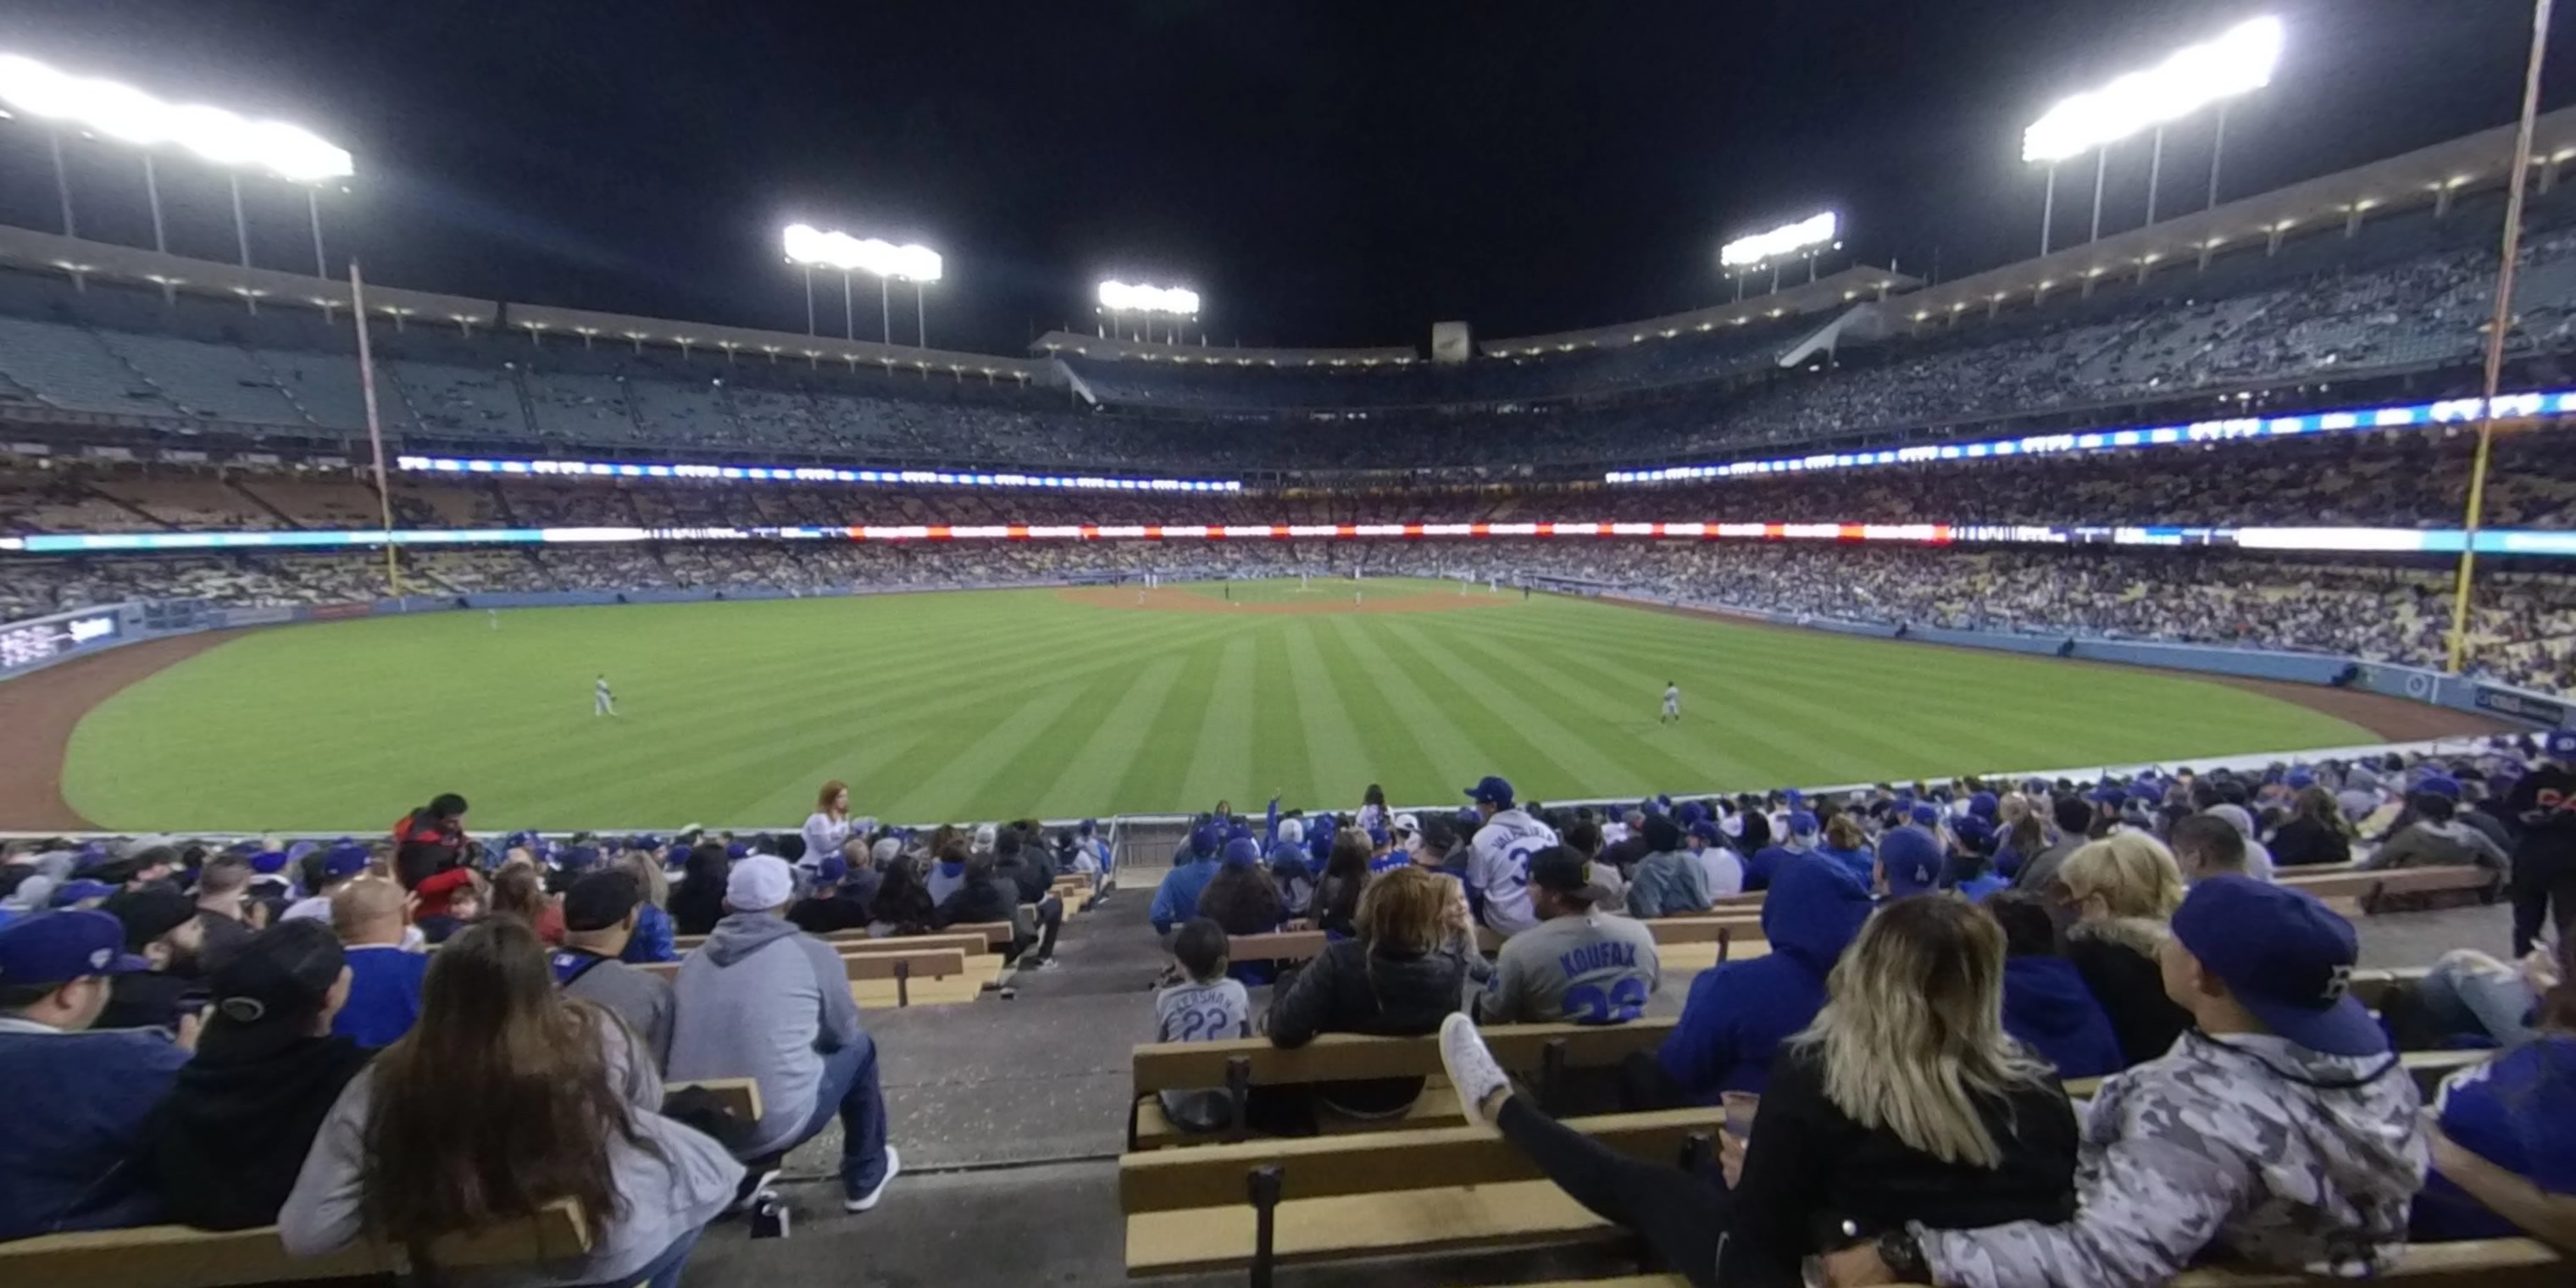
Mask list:
[[[2354,956],[2352,925],[2306,891],[2244,876],[2192,886],[2159,948],[2164,989],[2192,1025],[2102,1084],[2074,1218],[1906,1224],[1826,1255],[1829,1280],[2128,1288],[2205,1257],[2391,1273],[2427,1139],[2414,1082],[2347,992]]]

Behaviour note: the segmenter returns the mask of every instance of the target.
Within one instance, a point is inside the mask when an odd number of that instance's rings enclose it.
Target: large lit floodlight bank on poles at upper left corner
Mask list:
[[[77,129],[142,149],[144,198],[152,204],[152,250],[170,250],[152,155],[160,147],[178,147],[222,167],[232,183],[232,240],[242,250],[242,268],[250,268],[250,224],[242,219],[242,170],[250,170],[304,188],[304,214],[314,229],[314,276],[330,276],[322,258],[319,191],[325,183],[353,175],[355,165],[345,149],[314,131],[286,121],[250,121],[201,103],[162,103],[131,85],[77,77],[21,54],[0,54],[0,108],[44,121],[46,144],[54,152],[54,196],[62,201],[64,237],[80,237],[80,224],[72,219],[72,180],[62,167],[62,131]]]

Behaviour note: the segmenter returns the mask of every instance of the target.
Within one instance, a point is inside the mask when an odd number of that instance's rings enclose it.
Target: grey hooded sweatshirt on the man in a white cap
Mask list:
[[[814,1118],[822,1056],[860,1036],[840,953],[773,912],[716,922],[706,945],[680,961],[672,994],[670,1077],[760,1082],[760,1123],[732,1141],[744,1159],[796,1139]]]

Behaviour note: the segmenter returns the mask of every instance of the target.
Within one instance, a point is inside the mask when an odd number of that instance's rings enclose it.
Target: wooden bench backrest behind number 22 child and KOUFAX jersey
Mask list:
[[[1654,1051],[1672,1033],[1672,1018],[1643,1018],[1623,1025],[1486,1025],[1484,1041],[1504,1069],[1530,1072],[1546,1061],[1548,1043],[1564,1041],[1569,1069],[1600,1069]],[[1221,1043],[1141,1043],[1133,1056],[1136,1095],[1188,1087],[1224,1087],[1226,1064],[1252,1066],[1255,1087],[1298,1082],[1337,1082],[1355,1077],[1430,1077],[1440,1072],[1440,1038],[1370,1038],[1324,1033],[1298,1048],[1270,1046],[1270,1038]]]

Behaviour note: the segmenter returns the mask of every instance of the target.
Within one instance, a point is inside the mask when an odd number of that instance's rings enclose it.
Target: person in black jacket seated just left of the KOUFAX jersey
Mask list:
[[[1414,1038],[1440,1030],[1440,1020],[1463,1007],[1468,979],[1489,971],[1471,925],[1463,889],[1430,868],[1401,866],[1368,878],[1352,920],[1360,938],[1324,945],[1273,989],[1270,1046],[1306,1046],[1319,1033]],[[1396,1118],[1417,1095],[1419,1077],[1314,1084],[1324,1108],[1350,1118]]]

